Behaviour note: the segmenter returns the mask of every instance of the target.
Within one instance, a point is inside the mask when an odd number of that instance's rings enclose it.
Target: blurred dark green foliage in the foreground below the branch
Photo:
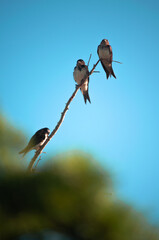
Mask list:
[[[117,199],[112,176],[90,155],[61,154],[32,174],[22,168],[15,171],[16,167],[4,170],[8,164],[18,165],[16,156],[24,138],[5,121],[0,129],[7,133],[0,140],[0,149],[6,151],[3,155],[1,150],[0,163],[1,240],[46,230],[76,240],[159,239],[158,229]]]

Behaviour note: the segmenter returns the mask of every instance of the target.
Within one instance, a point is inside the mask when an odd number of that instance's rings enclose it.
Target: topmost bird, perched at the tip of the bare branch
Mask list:
[[[97,48],[97,53],[100,58],[102,67],[106,73],[107,79],[109,76],[113,75],[116,78],[113,68],[112,68],[112,60],[113,60],[113,52],[112,47],[109,45],[109,41],[107,39],[103,39],[100,45]]]

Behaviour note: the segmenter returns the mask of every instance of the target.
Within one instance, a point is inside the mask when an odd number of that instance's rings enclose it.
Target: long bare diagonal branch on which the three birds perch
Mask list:
[[[35,164],[35,161],[36,159],[38,158],[38,156],[42,153],[42,150],[45,148],[45,146],[48,144],[48,142],[53,138],[53,136],[56,134],[56,132],[58,131],[59,127],[61,126],[64,118],[65,118],[65,115],[66,115],[66,112],[67,110],[69,109],[69,105],[70,103],[72,102],[72,100],[74,99],[74,97],[76,96],[78,90],[80,89],[80,87],[85,83],[86,79],[88,78],[88,76],[90,76],[93,72],[94,72],[94,69],[96,68],[96,66],[98,65],[100,59],[96,62],[96,64],[94,64],[92,70],[88,73],[88,75],[81,81],[81,84],[79,85],[76,85],[76,89],[75,91],[73,92],[73,94],[71,95],[71,97],[69,98],[69,100],[67,101],[66,103],[66,106],[63,110],[63,112],[61,113],[61,117],[60,117],[60,120],[58,121],[57,125],[55,126],[54,130],[51,132],[51,134],[48,136],[47,140],[44,142],[44,144],[41,146],[41,148],[36,151],[34,157],[31,159],[30,163],[29,163],[29,166],[28,166],[28,171],[31,172],[33,170],[33,166]],[[38,164],[38,163],[37,163]],[[36,164],[36,167],[37,167],[37,164]]]

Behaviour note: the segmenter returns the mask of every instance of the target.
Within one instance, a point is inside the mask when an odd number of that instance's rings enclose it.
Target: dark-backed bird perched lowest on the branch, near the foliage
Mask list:
[[[50,134],[49,128],[42,128],[38,130],[30,139],[28,145],[19,152],[19,154],[23,153],[23,157],[30,152],[31,150],[35,149],[36,151],[39,150],[40,146],[46,141]]]

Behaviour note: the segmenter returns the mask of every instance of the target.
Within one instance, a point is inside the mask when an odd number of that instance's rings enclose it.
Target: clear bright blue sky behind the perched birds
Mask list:
[[[113,172],[119,195],[159,223],[159,2],[0,0],[0,108],[29,138],[55,127],[79,58],[109,40],[117,79],[99,64],[91,104],[79,91],[46,147],[81,149]]]

